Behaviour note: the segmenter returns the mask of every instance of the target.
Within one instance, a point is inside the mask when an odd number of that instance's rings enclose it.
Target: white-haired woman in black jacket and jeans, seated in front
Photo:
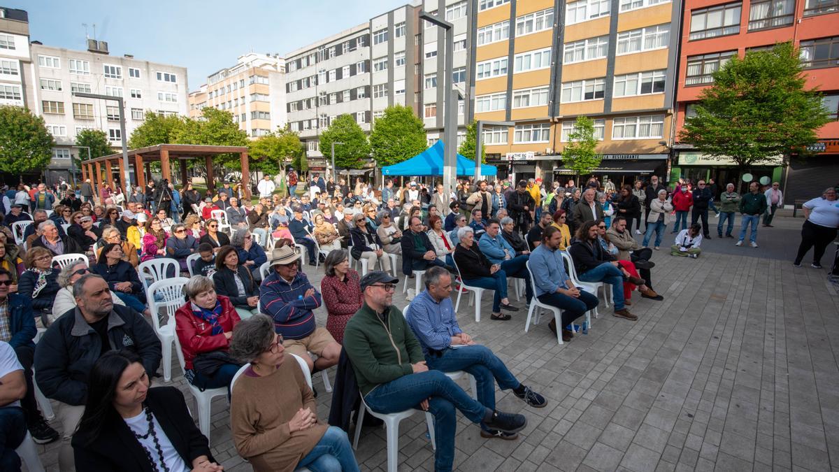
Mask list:
[[[477,286],[494,291],[492,296],[492,316],[490,319],[507,321],[510,315],[501,314],[501,309],[518,312],[518,307],[510,305],[507,296],[507,273],[500,264],[492,264],[478,245],[475,244],[475,230],[464,226],[457,230],[459,243],[452,256],[460,270],[461,279],[467,286]]]

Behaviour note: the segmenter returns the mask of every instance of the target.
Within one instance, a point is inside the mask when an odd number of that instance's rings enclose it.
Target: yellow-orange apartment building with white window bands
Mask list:
[[[680,5],[477,0],[475,118],[515,123],[484,128],[487,160],[515,180],[565,181],[562,150],[585,115],[604,158],[594,174],[616,184],[664,174]]]

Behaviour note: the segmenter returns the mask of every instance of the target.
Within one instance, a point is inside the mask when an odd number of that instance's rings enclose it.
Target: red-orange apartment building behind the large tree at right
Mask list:
[[[680,38],[675,137],[693,113],[701,91],[727,60],[749,50],[770,48],[793,41],[800,49],[807,87],[819,87],[832,122],[819,131],[812,146],[815,156],[793,156],[786,165],[779,156],[746,171],[757,180],[780,181],[785,200],[811,198],[839,175],[839,2],[836,0],[685,0],[685,28]],[[709,159],[689,144],[675,144],[671,179],[737,181],[739,169],[732,160]],[[786,172],[784,172],[786,170]]]

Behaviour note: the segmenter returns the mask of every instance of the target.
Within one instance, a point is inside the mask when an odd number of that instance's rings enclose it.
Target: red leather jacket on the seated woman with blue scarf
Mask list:
[[[223,295],[217,297],[221,302],[221,316],[218,320],[224,333],[227,333],[239,323],[239,314],[231,304],[230,298]],[[180,350],[184,353],[186,369],[192,369],[192,359],[195,359],[197,354],[230,348],[230,340],[225,338],[223,333],[215,336],[211,333],[210,325],[192,313],[191,302],[186,302],[175,312],[175,334],[180,341]]]

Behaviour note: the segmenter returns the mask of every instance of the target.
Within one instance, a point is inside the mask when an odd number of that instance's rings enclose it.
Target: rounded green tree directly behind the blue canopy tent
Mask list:
[[[409,160],[428,147],[425,125],[412,108],[402,105],[385,108],[383,116],[373,122],[370,147],[379,167]]]

